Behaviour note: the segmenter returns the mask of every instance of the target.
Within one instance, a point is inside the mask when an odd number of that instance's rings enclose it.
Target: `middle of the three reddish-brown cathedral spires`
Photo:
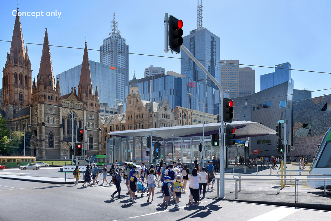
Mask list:
[[[47,86],[54,88],[55,80],[54,80],[54,75],[53,75],[51,52],[49,49],[47,28],[45,28],[45,29],[46,30],[45,30],[44,45],[42,48],[40,68],[39,68],[39,74],[38,74],[39,85],[43,84],[44,88],[46,88]]]

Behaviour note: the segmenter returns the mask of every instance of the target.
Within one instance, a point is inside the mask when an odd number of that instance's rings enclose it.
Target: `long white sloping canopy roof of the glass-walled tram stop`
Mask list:
[[[205,124],[205,136],[218,133],[218,128],[222,123]],[[269,134],[275,134],[276,131],[272,130],[260,123],[252,121],[234,121],[230,125],[236,128],[236,139],[247,137],[258,137]],[[202,124],[184,125],[176,127],[162,127],[162,128],[149,128],[127,131],[114,131],[108,133],[115,137],[137,137],[137,136],[150,136],[157,138],[174,138],[174,137],[194,137],[202,136]]]

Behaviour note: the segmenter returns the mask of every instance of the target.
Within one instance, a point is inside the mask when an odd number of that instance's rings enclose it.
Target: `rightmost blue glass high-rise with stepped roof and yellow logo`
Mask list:
[[[291,64],[289,62],[275,65],[275,72],[261,75],[260,85],[261,90],[265,90],[269,87],[273,87],[280,83],[290,82],[294,85],[294,81],[291,78]]]

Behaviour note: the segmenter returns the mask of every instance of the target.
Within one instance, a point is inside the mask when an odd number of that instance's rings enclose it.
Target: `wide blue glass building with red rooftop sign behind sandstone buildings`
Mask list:
[[[176,106],[202,111],[201,105],[195,98],[187,96],[191,93],[199,99],[205,106],[205,113],[218,115],[219,90],[206,84],[198,83],[189,78],[175,77],[173,75],[155,75],[143,79],[137,79],[139,94],[142,100],[158,101],[166,96],[169,107],[174,109]],[[130,86],[125,86],[124,97],[130,93]],[[224,97],[228,97],[223,93]],[[127,106],[124,99],[123,110]]]

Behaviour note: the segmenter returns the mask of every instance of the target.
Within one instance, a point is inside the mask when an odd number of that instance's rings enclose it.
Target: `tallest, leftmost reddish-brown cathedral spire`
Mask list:
[[[15,18],[15,25],[14,25],[14,31],[13,31],[13,37],[12,37],[12,44],[10,46],[10,56],[11,59],[14,59],[14,63],[18,64],[21,63],[23,65],[23,62],[25,62],[25,50],[24,50],[24,41],[23,41],[23,34],[22,34],[22,27],[21,27],[21,20],[20,16],[18,15],[19,9],[17,7],[17,13]],[[20,55],[22,58],[20,59]]]

